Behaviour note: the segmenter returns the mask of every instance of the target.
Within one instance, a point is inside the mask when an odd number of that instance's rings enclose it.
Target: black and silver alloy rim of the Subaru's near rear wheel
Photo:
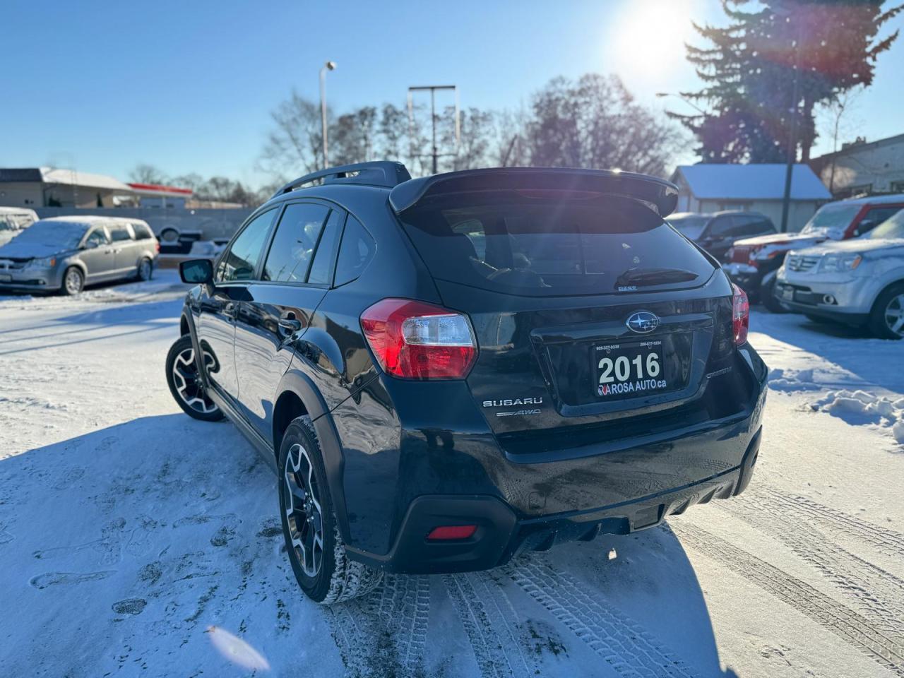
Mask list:
[[[324,561],[324,521],[314,465],[307,450],[289,447],[284,469],[288,532],[301,569],[314,578]]]

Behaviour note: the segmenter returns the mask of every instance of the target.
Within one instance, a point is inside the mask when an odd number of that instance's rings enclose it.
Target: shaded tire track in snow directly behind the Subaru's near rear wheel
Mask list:
[[[426,575],[386,575],[370,596],[329,608],[326,618],[348,674],[423,675],[429,605]]]

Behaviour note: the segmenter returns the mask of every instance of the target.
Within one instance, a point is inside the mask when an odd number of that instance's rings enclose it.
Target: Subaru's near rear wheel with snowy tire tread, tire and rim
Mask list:
[[[279,446],[278,474],[279,514],[289,564],[307,598],[332,605],[376,589],[382,571],[349,560],[345,552],[309,417],[293,419],[286,428]]]

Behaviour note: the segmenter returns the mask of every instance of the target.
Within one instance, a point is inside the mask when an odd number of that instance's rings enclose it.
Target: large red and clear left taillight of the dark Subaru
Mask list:
[[[464,379],[477,358],[467,315],[410,299],[383,299],[361,315],[383,372],[400,379]]]

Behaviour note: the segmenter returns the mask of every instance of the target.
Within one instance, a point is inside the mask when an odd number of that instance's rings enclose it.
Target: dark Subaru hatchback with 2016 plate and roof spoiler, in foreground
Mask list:
[[[346,165],[182,264],[197,286],[170,389],[277,472],[307,596],[492,568],[744,490],[767,369],[744,293],[663,221],[676,194],[623,172]]]

